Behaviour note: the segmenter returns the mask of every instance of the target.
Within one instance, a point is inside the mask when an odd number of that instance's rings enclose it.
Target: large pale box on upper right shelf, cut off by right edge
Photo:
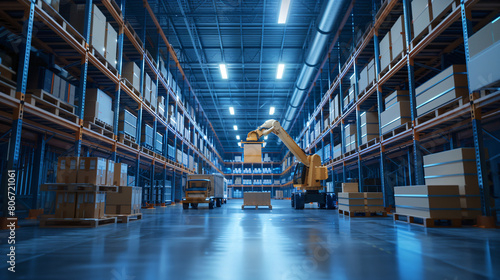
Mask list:
[[[500,81],[500,20],[487,24],[469,38],[469,81],[473,91]]]

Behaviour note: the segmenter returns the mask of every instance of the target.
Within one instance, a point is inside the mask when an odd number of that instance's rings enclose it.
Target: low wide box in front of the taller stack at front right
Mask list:
[[[395,187],[396,213],[421,218],[461,218],[458,186]]]

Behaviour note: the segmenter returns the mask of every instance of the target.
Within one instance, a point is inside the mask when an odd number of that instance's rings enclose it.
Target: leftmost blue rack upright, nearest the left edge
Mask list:
[[[28,68],[29,68],[29,60],[30,60],[30,50],[31,50],[31,38],[33,36],[33,21],[35,16],[35,1],[31,1],[30,8],[28,11],[27,18],[23,24],[23,34],[21,36],[22,44],[21,44],[21,52],[19,54],[19,73],[17,75],[17,88],[16,88],[16,97],[20,99],[22,102],[19,104],[17,108],[14,109],[13,119],[12,119],[12,129],[9,140],[9,149],[7,151],[7,168],[0,171],[2,174],[2,214],[3,217],[14,217],[15,213],[13,211],[9,211],[9,197],[12,197],[12,194],[9,195],[9,174],[14,172],[16,174],[16,180],[19,168],[19,155],[21,149],[21,131],[23,126],[23,112],[24,112],[24,95],[26,94],[26,85],[28,81]],[[19,185],[14,185],[14,188],[17,189]],[[11,189],[12,190],[12,189]],[[17,190],[13,192],[17,193]],[[12,192],[11,192],[12,193]],[[3,220],[3,219],[2,219]]]

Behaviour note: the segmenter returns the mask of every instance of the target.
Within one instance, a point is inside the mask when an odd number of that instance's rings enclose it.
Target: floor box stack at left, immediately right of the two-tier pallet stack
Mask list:
[[[142,188],[121,186],[116,193],[108,193],[106,214],[141,213]]]

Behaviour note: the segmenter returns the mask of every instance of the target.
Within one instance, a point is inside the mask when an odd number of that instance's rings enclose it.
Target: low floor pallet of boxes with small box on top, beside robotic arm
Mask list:
[[[358,183],[342,183],[339,214],[349,217],[387,217],[381,192],[358,192]]]

